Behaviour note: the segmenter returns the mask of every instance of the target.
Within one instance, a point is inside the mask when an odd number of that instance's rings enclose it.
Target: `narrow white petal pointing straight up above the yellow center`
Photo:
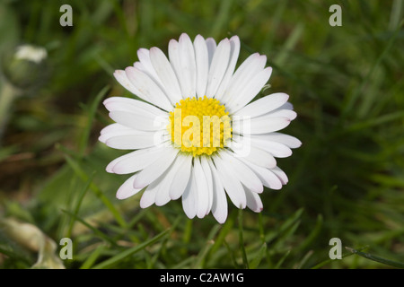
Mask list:
[[[197,95],[202,98],[206,95],[207,73],[209,70],[206,40],[202,36],[198,35],[195,38],[194,49],[197,65]]]

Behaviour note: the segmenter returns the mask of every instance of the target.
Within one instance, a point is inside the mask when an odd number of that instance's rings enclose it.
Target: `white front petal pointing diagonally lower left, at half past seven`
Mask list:
[[[156,178],[159,178],[165,170],[170,168],[171,163],[175,160],[178,152],[178,149],[172,148],[162,155],[160,159],[147,166],[145,170],[139,171],[138,177],[134,182],[134,187],[145,187],[152,183]]]

